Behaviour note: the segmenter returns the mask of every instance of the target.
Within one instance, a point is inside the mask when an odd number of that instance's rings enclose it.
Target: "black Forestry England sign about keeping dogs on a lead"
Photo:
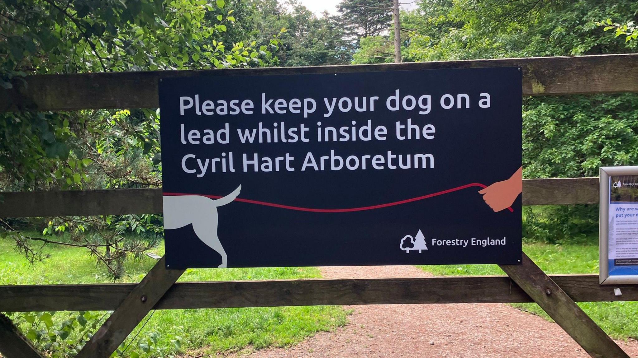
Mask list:
[[[170,268],[515,264],[521,72],[164,78]]]

